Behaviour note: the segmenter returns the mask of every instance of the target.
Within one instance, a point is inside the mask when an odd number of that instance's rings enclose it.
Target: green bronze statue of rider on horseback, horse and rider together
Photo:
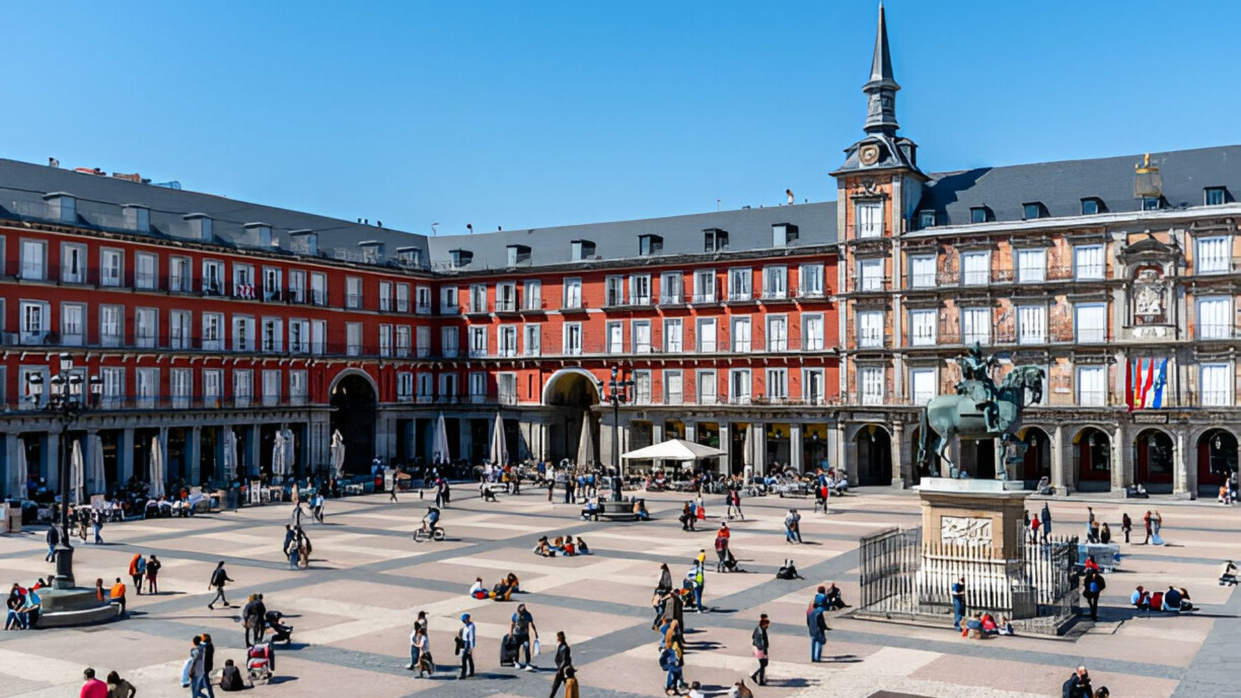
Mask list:
[[[939,477],[932,457],[938,455],[949,475],[957,477],[958,466],[948,456],[952,435],[970,440],[995,439],[995,479],[1008,480],[1010,467],[1015,470],[1025,453],[1025,444],[1016,438],[1021,407],[1042,400],[1044,372],[1037,366],[1018,366],[997,386],[990,368],[999,361],[984,355],[978,343],[956,361],[961,366],[957,393],[937,395],[922,408],[918,465],[928,467],[932,477]],[[1029,402],[1026,391],[1030,391]],[[932,430],[937,436],[932,436]],[[937,440],[932,446],[933,438]]]

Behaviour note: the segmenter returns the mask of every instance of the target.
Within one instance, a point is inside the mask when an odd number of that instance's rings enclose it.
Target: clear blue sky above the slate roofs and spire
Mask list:
[[[1241,143],[1227,1],[887,2],[930,171]],[[876,4],[9,4],[0,156],[412,232],[834,198]]]

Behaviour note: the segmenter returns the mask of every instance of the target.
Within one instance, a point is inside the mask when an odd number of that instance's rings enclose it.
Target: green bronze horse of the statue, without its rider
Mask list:
[[[1008,479],[1008,462],[1003,457],[1005,445],[1019,444],[1014,431],[1021,415],[1021,405],[1025,404],[1025,392],[1031,392],[1031,403],[1042,400],[1042,381],[1045,376],[1037,366],[1018,366],[1004,377],[1004,382],[995,389],[995,407],[999,413],[997,423],[999,429],[992,431],[987,428],[987,420],[975,397],[968,394],[938,395],[922,408],[921,431],[918,441],[918,465],[931,469],[932,477],[939,477],[939,470],[934,467],[932,455],[949,467],[952,476],[957,475],[957,465],[948,457],[948,443],[956,434],[961,439],[999,439],[997,451],[1000,457],[995,461],[995,477]],[[988,379],[988,383],[990,381]],[[931,430],[938,435],[938,440],[932,448]]]

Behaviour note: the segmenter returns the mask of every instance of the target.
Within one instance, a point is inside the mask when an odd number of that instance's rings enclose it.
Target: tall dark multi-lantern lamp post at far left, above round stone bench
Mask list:
[[[55,414],[61,422],[61,440],[57,449],[57,477],[61,490],[61,542],[56,546],[56,580],[52,586],[56,589],[73,588],[73,546],[69,543],[69,459],[68,459],[68,431],[77,422],[77,418],[96,402],[103,392],[103,381],[98,376],[92,376],[87,381],[82,372],[73,371],[73,357],[61,353],[60,367],[55,376],[47,382],[47,412]],[[89,394],[86,393],[83,383],[89,383]],[[26,388],[30,402],[38,405],[43,395],[43,377],[38,373],[30,373],[26,377]]]

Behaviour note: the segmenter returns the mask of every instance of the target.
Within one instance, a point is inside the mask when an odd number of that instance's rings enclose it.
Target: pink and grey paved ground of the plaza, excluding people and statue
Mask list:
[[[429,492],[428,492],[429,495]],[[560,492],[557,492],[560,500]],[[881,691],[928,697],[1018,698],[1060,696],[1072,667],[1085,663],[1095,686],[1113,697],[1241,696],[1235,681],[1241,593],[1215,583],[1219,563],[1241,557],[1241,511],[1209,503],[1107,501],[1095,511],[1119,538],[1121,512],[1138,521],[1149,506],[1164,517],[1167,547],[1123,546],[1123,569],[1108,579],[1101,621],[1072,638],[1001,637],[969,641],[951,627],[932,629],[829,617],[825,657],[812,665],[805,607],[817,585],[834,580],[845,599],[858,599],[858,538],[894,524],[918,524],[912,492],[866,490],[833,500],[830,515],[810,513],[813,501],[745,500],[746,521],[730,522],[732,549],[747,574],[716,574],[711,547],[724,513],[722,497],[709,497],[709,519],[697,533],[676,522],[680,500],[654,495],[656,521],[583,522],[578,507],[547,503],[546,492],[526,490],[484,503],[468,486],[454,490],[444,515],[448,539],[410,538],[429,500],[417,493],[387,502],[386,495],[328,502],[325,524],[308,526],[314,544],[309,570],[289,570],[280,544],[289,505],[247,507],[195,518],[135,521],[107,526],[105,546],[78,546],[79,584],[125,575],[135,552],[164,560],[161,594],[129,593],[127,620],[83,630],[0,634],[0,696],[77,696],[81,672],[101,677],[115,669],[143,698],[185,696],[181,663],[190,638],[211,632],[216,666],[243,663],[240,609],[210,611],[207,578],[226,560],[236,584],[228,598],[242,604],[262,591],[269,609],[293,616],[295,643],[277,650],[278,683],[247,692],[262,697],[427,696],[544,697],[552,672],[555,634],[563,630],[573,648],[582,696],[630,698],[661,696],[664,673],[650,630],[652,589],[659,563],[680,578],[701,548],[709,553],[707,614],[686,614],[685,678],[719,693],[756,667],[750,634],[758,614],[772,617],[769,687],[758,697],[866,698]],[[803,512],[808,544],[784,542],[782,518],[789,506]],[[1030,508],[1041,507],[1031,502]],[[1051,503],[1055,532],[1085,528],[1086,501]],[[676,510],[676,511],[674,511]],[[591,557],[542,559],[530,553],[539,536],[582,536]],[[1140,534],[1138,536],[1140,541]],[[30,584],[51,572],[43,562],[42,529],[0,537],[0,580]],[[786,557],[805,580],[774,579]],[[499,668],[500,637],[515,603],[470,599],[475,577],[490,586],[514,572],[540,631],[544,671]],[[1137,584],[1186,586],[1204,611],[1186,616],[1136,617],[1128,594]],[[441,672],[414,678],[405,669],[408,636],[418,610],[431,616],[431,647]],[[454,681],[453,635],[463,611],[478,624],[478,678]],[[1231,684],[1226,683],[1231,677]],[[747,684],[751,682],[747,678]],[[1178,688],[1179,687],[1179,688]],[[711,694],[711,692],[709,692]]]

